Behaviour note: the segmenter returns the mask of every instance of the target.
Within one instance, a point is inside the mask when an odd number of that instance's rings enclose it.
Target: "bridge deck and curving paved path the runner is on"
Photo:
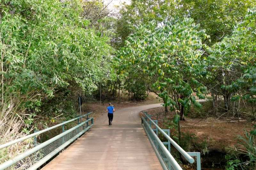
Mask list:
[[[141,126],[139,112],[160,104],[116,109],[113,125],[108,116],[97,118],[86,132],[43,170],[160,170],[162,169]]]

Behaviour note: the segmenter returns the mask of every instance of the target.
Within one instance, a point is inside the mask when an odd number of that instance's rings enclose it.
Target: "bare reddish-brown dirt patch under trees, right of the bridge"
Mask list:
[[[251,130],[252,124],[246,120],[219,121],[213,118],[181,122],[181,127],[187,132],[196,134],[200,139],[210,141],[212,149],[225,150],[226,147],[236,144],[238,135],[244,136],[244,130]]]

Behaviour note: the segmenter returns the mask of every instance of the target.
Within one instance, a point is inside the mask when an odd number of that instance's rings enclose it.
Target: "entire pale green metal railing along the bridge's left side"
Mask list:
[[[62,149],[67,147],[69,144],[71,144],[74,140],[76,140],[78,137],[80,137],[83,133],[85,133],[92,127],[94,122],[93,122],[93,117],[89,118],[89,115],[91,113],[92,112],[79,116],[77,118],[71,119],[69,121],[57,124],[50,128],[37,131],[31,135],[27,135],[25,137],[13,140],[6,144],[0,145],[0,149],[3,149],[13,144],[20,143],[26,139],[34,138],[34,147],[1,164],[0,170],[4,170],[4,169],[33,170],[42,166],[47,160],[51,159],[54,155],[56,155]],[[84,118],[84,121],[82,120],[82,118]],[[76,120],[77,120],[76,126],[68,130],[65,130],[65,125],[67,123],[74,122]],[[79,122],[79,120],[81,120],[82,122],[81,121]],[[62,133],[60,133],[55,137],[52,137],[51,139],[41,144],[36,143],[36,136],[60,126],[62,126]]]

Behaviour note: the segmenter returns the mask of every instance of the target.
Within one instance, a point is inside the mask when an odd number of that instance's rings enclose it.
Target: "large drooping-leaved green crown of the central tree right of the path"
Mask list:
[[[185,110],[191,103],[200,107],[191,95],[197,92],[202,97],[206,92],[198,80],[206,73],[202,49],[207,46],[202,40],[207,35],[198,27],[189,18],[139,26],[118,52],[120,73],[139,74],[172,110],[180,110],[179,104]]]

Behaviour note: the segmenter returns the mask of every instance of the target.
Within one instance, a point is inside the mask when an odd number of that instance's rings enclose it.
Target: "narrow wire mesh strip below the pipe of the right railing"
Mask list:
[[[155,135],[154,132],[152,132],[151,127],[149,126],[148,122],[143,121],[143,125],[145,127],[145,130],[148,132],[148,137],[153,141],[153,143],[156,146],[156,149],[157,149],[158,153],[160,154],[161,158],[163,159],[164,164],[166,165],[166,167],[169,170],[175,170],[172,167],[171,162],[167,159],[166,155],[164,154],[162,148],[160,147],[160,143],[156,140],[156,135]]]

